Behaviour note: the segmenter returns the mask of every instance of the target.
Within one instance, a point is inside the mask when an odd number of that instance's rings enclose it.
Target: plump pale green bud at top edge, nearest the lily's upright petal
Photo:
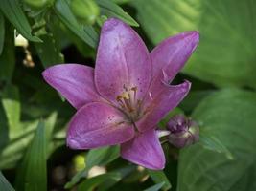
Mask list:
[[[94,24],[100,15],[99,7],[93,0],[72,0],[71,10],[82,24]]]

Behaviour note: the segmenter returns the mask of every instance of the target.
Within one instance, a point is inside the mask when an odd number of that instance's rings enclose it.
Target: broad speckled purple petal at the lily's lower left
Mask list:
[[[83,106],[71,119],[67,145],[91,149],[115,145],[134,137],[134,128],[124,122],[123,113],[101,102]]]

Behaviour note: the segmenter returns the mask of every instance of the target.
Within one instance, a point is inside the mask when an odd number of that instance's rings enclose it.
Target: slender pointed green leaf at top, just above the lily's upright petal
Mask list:
[[[128,25],[139,27],[139,24],[117,4],[106,0],[96,0],[96,3],[100,7],[102,15],[106,15],[107,17],[116,17],[123,20]]]

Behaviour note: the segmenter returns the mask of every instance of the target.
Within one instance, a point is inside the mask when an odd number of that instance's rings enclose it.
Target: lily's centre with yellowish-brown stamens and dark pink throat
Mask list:
[[[120,109],[126,114],[130,122],[135,122],[140,117],[141,100],[138,99],[138,88],[132,87],[130,89],[124,86],[125,91],[116,97],[116,100],[120,106]]]

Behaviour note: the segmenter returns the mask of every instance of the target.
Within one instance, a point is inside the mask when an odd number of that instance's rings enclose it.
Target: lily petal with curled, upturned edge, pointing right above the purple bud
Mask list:
[[[162,83],[161,92],[147,97],[145,100],[145,116],[136,122],[136,126],[141,132],[145,132],[165,117],[168,112],[174,109],[179,102],[188,94],[191,83],[185,81],[179,85],[169,85]]]

